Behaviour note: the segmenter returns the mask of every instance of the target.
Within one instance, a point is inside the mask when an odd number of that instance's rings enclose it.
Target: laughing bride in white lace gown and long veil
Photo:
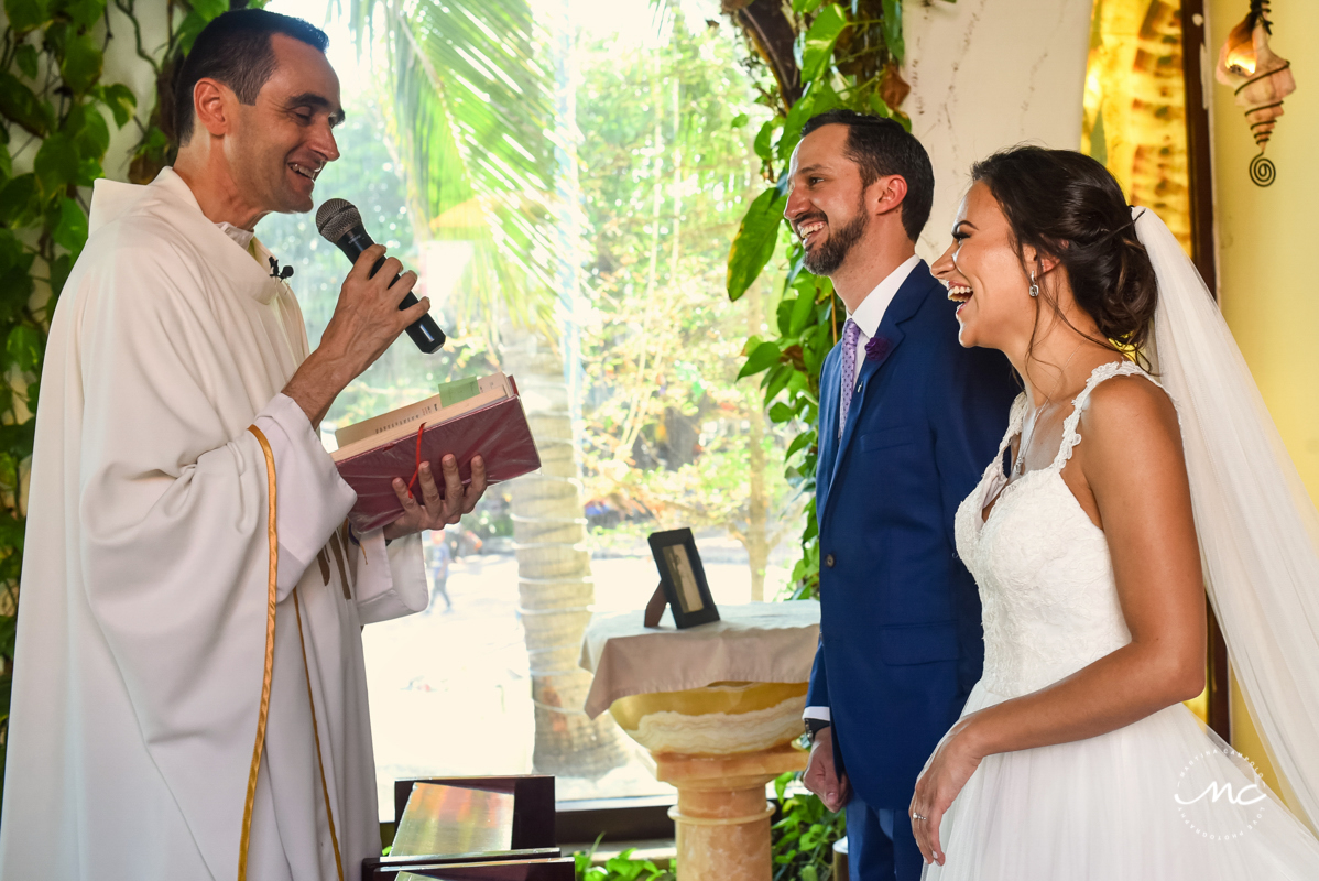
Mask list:
[[[1167,227],[1079,153],[972,170],[934,274],[1025,393],[956,516],[984,677],[911,799],[927,881],[1319,878],[1319,843],[1181,702],[1204,590],[1319,819],[1319,517]]]

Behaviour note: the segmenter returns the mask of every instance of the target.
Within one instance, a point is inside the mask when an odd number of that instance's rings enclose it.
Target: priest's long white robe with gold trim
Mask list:
[[[269,564],[255,423],[280,553],[248,877],[338,877],[328,795],[356,878],[380,852],[361,625],[426,607],[421,539],[346,541],[353,492],[281,394],[307,342],[265,252],[170,169],[98,182],[91,224],[37,410],[0,877],[237,876]]]

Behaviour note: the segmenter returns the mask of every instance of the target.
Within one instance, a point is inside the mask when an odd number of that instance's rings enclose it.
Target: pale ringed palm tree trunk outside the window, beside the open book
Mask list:
[[[518,596],[536,707],[537,773],[598,778],[627,761],[617,725],[582,710],[591,674],[578,667],[595,600],[563,359],[543,338],[503,347],[541,452],[541,471],[512,484]]]

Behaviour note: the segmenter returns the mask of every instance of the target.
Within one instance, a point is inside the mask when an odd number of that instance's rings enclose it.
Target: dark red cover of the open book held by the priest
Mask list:
[[[419,434],[419,452],[418,433],[413,431],[335,463],[339,476],[357,493],[357,504],[348,512],[348,520],[357,532],[379,529],[402,516],[404,506],[394,495],[393,480],[409,480],[421,462],[431,464],[441,496],[445,495],[445,481],[439,460],[447,454],[458,459],[458,473],[464,487],[472,480],[472,458],[477,455],[485,462],[485,477],[491,484],[541,467],[541,455],[518,397],[495,401],[451,422],[426,426]],[[419,493],[419,477],[412,489],[413,495]]]

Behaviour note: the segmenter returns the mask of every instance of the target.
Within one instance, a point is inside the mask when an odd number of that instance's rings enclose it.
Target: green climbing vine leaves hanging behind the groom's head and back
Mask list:
[[[778,226],[787,202],[793,150],[806,121],[845,107],[896,119],[910,129],[907,117],[885,103],[885,87],[897,83],[902,61],[901,0],[852,0],[822,4],[794,0],[795,58],[802,96],[786,109],[773,84],[762,84],[768,107],[776,111],[754,141],[762,175],[770,189],[761,193],[743,218],[728,252],[728,297],[737,299],[770,268],[782,295],[772,328],[777,336],[753,335],[743,348],[739,379],[761,376],[762,402],[772,422],[794,431],[785,454],[785,476],[806,500],[801,535],[802,557],[793,568],[795,597],[819,591],[819,534],[815,522],[815,467],[818,463],[819,373],[824,356],[838,343],[843,302],[828,278],[803,272],[805,252],[789,228],[789,241],[777,248]],[[776,256],[778,260],[776,261]]]

